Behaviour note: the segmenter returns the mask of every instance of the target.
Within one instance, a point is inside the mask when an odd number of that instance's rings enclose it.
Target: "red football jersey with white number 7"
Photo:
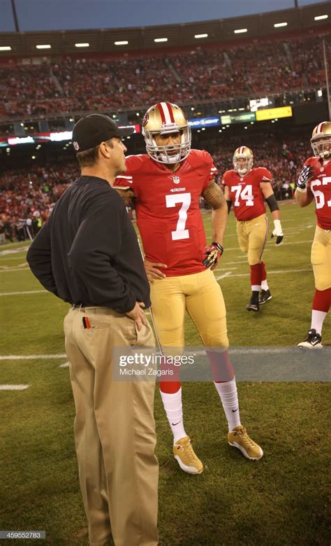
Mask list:
[[[216,172],[209,153],[191,150],[176,172],[149,155],[128,155],[126,172],[115,180],[115,186],[133,189],[146,258],[168,265],[162,269],[166,276],[205,270],[199,200]]]

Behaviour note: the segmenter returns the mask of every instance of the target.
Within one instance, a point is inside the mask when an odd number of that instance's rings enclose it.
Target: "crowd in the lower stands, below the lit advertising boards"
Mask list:
[[[206,139],[200,143],[200,148],[212,154],[219,169],[216,175],[219,184],[223,173],[233,168],[233,152],[242,144],[252,148],[256,167],[267,167],[272,172],[277,199],[293,197],[289,186],[294,186],[302,164],[311,155],[309,141],[293,135],[281,139],[272,135],[265,137],[265,134],[251,135],[245,143],[238,141],[237,136]],[[57,165],[50,163],[47,167],[34,165],[31,169],[13,169],[0,174],[0,234],[6,232],[9,240],[19,239],[20,233],[24,236],[22,223],[29,225],[31,222],[31,230],[35,232],[37,223],[45,222],[55,202],[78,176],[75,160]]]

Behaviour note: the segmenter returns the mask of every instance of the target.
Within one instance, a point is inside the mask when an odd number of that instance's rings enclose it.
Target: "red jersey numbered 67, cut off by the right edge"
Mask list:
[[[304,165],[311,165],[314,169],[308,187],[315,197],[317,225],[323,230],[331,230],[331,161],[309,158]]]

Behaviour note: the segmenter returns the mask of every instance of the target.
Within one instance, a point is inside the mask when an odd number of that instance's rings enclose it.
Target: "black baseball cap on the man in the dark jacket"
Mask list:
[[[113,137],[122,139],[133,132],[134,127],[119,128],[109,116],[89,114],[73,127],[73,147],[76,152],[84,152]]]

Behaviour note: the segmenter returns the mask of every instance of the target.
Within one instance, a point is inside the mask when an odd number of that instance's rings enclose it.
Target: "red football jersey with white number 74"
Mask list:
[[[240,176],[234,169],[224,173],[222,183],[230,190],[237,220],[253,220],[265,213],[265,198],[260,183],[270,182],[271,179],[272,174],[265,167],[251,169],[245,176]]]

